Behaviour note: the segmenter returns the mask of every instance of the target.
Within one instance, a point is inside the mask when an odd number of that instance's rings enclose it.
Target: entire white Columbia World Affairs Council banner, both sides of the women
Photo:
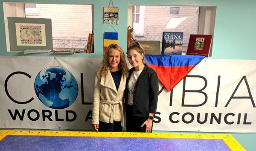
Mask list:
[[[101,61],[0,56],[0,128],[92,129],[94,75]],[[153,130],[256,132],[254,64],[204,59],[172,91],[160,84]]]

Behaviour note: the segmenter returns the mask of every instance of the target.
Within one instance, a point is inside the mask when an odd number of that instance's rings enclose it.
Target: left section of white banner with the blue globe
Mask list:
[[[94,76],[101,61],[0,56],[0,128],[92,129]],[[49,91],[51,87],[59,91]]]

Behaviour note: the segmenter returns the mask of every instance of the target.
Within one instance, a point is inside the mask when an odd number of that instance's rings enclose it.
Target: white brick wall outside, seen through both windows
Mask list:
[[[180,7],[179,15],[171,15],[170,7],[145,6],[144,35],[135,35],[136,40],[160,41],[160,47],[162,47],[163,32],[184,32],[183,47],[186,47],[189,35],[197,34],[199,7]],[[38,12],[38,14],[30,13],[27,17],[52,18],[54,47],[83,49],[86,46],[88,33],[92,31],[90,5],[38,4]],[[187,18],[177,28],[166,29],[172,17]]]

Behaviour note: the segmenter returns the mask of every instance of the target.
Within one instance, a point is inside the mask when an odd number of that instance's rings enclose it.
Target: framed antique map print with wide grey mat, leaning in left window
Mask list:
[[[10,51],[52,50],[52,21],[45,18],[8,17]]]

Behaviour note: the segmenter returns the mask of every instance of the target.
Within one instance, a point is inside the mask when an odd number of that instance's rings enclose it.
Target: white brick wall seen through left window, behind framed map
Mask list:
[[[83,49],[92,32],[91,5],[38,4],[27,17],[52,18],[53,47]]]

